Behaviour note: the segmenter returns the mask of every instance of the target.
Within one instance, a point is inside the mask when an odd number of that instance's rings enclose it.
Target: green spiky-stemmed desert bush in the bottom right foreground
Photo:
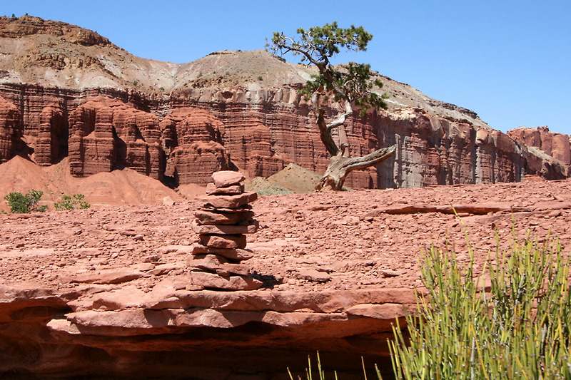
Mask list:
[[[557,240],[514,241],[487,260],[488,292],[473,249],[466,265],[424,253],[428,294],[406,317],[410,339],[397,324],[389,343],[397,379],[571,379],[570,260]]]

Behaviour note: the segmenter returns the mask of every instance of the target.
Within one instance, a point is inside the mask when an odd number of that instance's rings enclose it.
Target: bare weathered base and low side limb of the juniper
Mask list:
[[[382,163],[395,153],[397,145],[392,145],[388,148],[381,148],[375,150],[373,153],[364,155],[362,157],[343,157],[346,145],[341,145],[341,150],[338,154],[333,155],[329,160],[329,166],[325,170],[323,178],[319,181],[315,190],[341,190],[345,178],[353,170],[365,169],[378,163]]]

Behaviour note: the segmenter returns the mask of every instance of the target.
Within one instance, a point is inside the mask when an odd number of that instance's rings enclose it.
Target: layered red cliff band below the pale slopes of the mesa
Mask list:
[[[253,178],[273,175],[288,163],[320,173],[328,165],[310,107],[295,88],[192,88],[164,96],[4,85],[0,96],[3,161],[30,152],[39,165],[51,165],[69,155],[76,176],[132,168],[173,185],[204,184],[213,171],[235,167]],[[333,109],[329,113],[334,115]],[[568,138],[567,145],[557,136],[543,138],[540,148],[553,148],[538,155],[525,145],[537,145],[525,134],[512,139],[468,118],[423,108],[370,111],[351,119],[345,133],[351,155],[398,147],[393,158],[353,172],[346,182],[350,188],[569,175]]]

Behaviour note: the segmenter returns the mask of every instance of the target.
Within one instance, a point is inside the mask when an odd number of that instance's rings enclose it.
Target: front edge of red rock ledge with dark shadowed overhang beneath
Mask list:
[[[206,371],[204,356],[211,353],[232,373],[271,373],[281,365],[303,366],[304,356],[325,349],[324,344],[350,351],[355,360],[365,355],[378,363],[388,354],[392,325],[399,318],[404,326],[409,308],[415,309],[413,289],[223,292],[158,284],[143,292],[133,285],[105,283],[78,284],[63,292],[1,286],[0,370],[133,376],[136,368],[162,377],[163,370],[179,369],[183,376],[190,375],[184,371]],[[355,337],[368,344],[355,346]],[[232,359],[236,350],[243,358],[240,364]],[[250,357],[260,351],[266,352],[264,363]],[[165,365],[151,366],[151,354]],[[8,355],[13,360],[6,360]],[[118,365],[125,361],[131,369]],[[278,367],[271,371],[271,366]],[[206,372],[196,378],[220,379]]]

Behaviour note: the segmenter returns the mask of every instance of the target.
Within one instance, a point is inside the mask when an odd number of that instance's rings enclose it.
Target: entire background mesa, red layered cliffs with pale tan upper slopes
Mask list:
[[[313,110],[298,93],[312,73],[306,66],[267,51],[217,51],[177,65],[57,21],[0,17],[0,26],[0,160],[20,154],[51,165],[69,155],[76,176],[132,168],[174,186],[206,184],[217,170],[253,178],[289,163],[327,168]],[[349,188],[570,175],[568,136],[542,128],[506,135],[472,111],[373,75],[388,109],[355,113],[333,136],[353,156],[397,149],[351,173]],[[338,112],[330,105],[326,116]]]

